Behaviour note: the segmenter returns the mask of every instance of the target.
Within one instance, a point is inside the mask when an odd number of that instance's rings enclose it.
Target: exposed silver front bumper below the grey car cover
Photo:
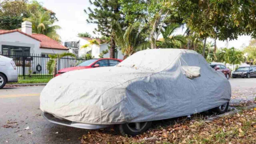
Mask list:
[[[103,129],[103,128],[108,128],[112,126],[112,125],[95,125],[95,124],[86,124],[82,122],[74,122],[67,119],[63,119],[63,118],[57,118],[54,115],[49,114],[47,112],[43,112],[43,117],[55,124],[75,127],[75,128],[82,128],[82,129]]]

